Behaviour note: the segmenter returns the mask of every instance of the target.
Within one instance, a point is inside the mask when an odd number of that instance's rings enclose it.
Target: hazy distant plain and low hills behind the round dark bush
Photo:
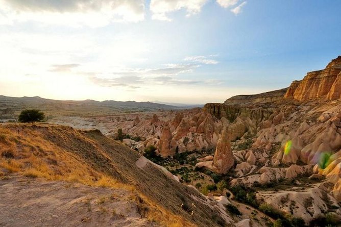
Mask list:
[[[115,113],[143,111],[177,110],[178,107],[152,102],[135,101],[95,101],[95,100],[53,100],[39,96],[8,97],[0,95],[0,120],[15,119],[25,108],[37,108],[45,112],[47,117],[54,116],[102,116]]]

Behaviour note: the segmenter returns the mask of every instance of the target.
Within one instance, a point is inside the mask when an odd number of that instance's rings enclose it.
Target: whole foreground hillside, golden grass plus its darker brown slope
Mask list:
[[[165,226],[220,226],[224,220],[199,192],[168,178],[158,167],[139,168],[140,155],[98,130],[48,124],[0,125],[1,175],[125,188],[136,194],[141,213]],[[0,168],[1,171],[1,168]],[[181,204],[196,208],[191,212]]]

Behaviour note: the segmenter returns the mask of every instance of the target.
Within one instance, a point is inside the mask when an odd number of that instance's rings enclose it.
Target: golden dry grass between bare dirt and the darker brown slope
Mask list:
[[[10,173],[17,172],[31,178],[42,177],[47,180],[63,180],[89,186],[126,189],[143,199],[144,206],[148,207],[148,212],[145,214],[148,220],[167,227],[196,226],[185,220],[185,218],[157,205],[149,197],[140,193],[133,185],[121,183],[112,176],[95,171],[84,160],[67,153],[62,148],[51,143],[51,141],[46,140],[44,136],[48,133],[52,134],[52,136],[54,133],[58,133],[66,141],[69,139],[65,134],[55,130],[57,126],[44,125],[35,127],[39,128],[34,129],[30,124],[13,124],[7,126],[7,128],[0,126],[0,134],[2,135],[0,154],[5,149],[11,149],[14,154],[14,158],[11,159],[0,156],[0,167],[7,169]],[[77,131],[73,130],[72,133],[77,133]],[[86,143],[93,144],[93,141],[81,133],[78,133],[77,136]],[[49,163],[48,160],[50,162],[51,160],[54,161]]]

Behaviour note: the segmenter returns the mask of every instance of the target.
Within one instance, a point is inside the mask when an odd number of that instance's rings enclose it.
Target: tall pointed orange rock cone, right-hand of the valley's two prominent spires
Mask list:
[[[218,174],[226,174],[234,165],[228,132],[225,129],[218,140],[213,158],[213,169]]]

